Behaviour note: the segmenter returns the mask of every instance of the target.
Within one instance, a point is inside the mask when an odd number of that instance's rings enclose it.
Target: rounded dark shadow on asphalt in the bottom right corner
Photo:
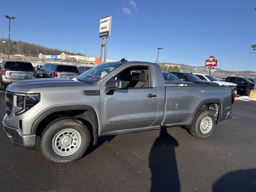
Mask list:
[[[212,186],[213,192],[256,191],[256,169],[236,170],[219,178]]]

